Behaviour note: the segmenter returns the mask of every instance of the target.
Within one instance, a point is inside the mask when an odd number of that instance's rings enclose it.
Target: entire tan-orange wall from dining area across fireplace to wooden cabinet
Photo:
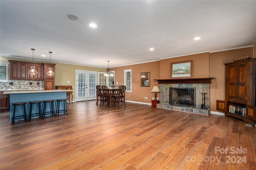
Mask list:
[[[253,57],[254,48],[242,48],[228,51],[220,51],[216,53],[200,53],[194,55],[186,55],[182,57],[162,59],[160,61],[128,65],[123,67],[111,68],[115,71],[115,81],[118,85],[124,84],[124,70],[132,69],[132,92],[126,93],[126,100],[141,101],[144,97],[148,97],[146,103],[150,103],[154,93],[151,93],[154,85],[158,85],[153,79],[170,79],[171,63],[179,61],[193,60],[193,77],[215,77],[210,85],[210,105],[211,111],[216,111],[216,100],[225,99],[225,65],[224,63],[233,62],[238,57]],[[151,72],[150,87],[140,87],[140,72]],[[158,85],[159,87],[159,85]],[[158,93],[159,97],[159,93]]]

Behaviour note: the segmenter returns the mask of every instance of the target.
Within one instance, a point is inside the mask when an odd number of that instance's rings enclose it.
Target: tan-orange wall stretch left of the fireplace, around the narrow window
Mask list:
[[[126,92],[126,100],[141,102],[143,99],[144,103],[151,103],[154,93],[151,92],[154,86],[158,86],[158,81],[154,79],[159,79],[159,63],[160,61],[154,61],[150,63],[142,63],[135,65],[128,65],[122,67],[110,68],[110,71],[115,71],[115,83],[118,85],[124,85],[124,70],[132,69],[132,92]],[[140,73],[150,72],[150,87],[140,87]],[[159,93],[157,93],[159,97]],[[144,97],[148,97],[144,101]]]

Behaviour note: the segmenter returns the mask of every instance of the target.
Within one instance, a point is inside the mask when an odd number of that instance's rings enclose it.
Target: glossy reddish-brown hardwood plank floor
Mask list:
[[[15,125],[0,114],[0,169],[256,169],[256,128],[242,121],[95,103],[73,103],[68,115]],[[220,153],[216,146],[247,151]],[[228,156],[248,162],[228,162]]]

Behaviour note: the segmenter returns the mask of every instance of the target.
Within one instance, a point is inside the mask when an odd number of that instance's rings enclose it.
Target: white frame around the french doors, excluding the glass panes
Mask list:
[[[76,89],[76,98],[75,98],[75,101],[77,101],[77,96],[78,96],[78,87],[77,87],[77,79],[76,79],[76,72],[77,71],[84,71],[84,72],[86,72],[86,85],[87,85],[87,87],[86,87],[86,100],[84,100],[84,101],[88,101],[88,100],[94,100],[94,99],[96,99],[96,96],[95,97],[89,97],[89,74],[90,73],[95,73],[96,74],[96,85],[98,85],[98,71],[88,71],[88,70],[80,70],[80,69],[75,69],[75,82],[76,82],[76,84],[75,84],[75,89]]]

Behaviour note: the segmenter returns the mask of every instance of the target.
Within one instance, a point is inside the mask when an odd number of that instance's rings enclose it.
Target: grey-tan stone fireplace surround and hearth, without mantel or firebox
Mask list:
[[[171,105],[170,102],[170,87],[179,87],[179,88],[195,88],[195,101],[196,107],[186,107],[179,105]],[[202,104],[202,93],[207,93],[205,95],[205,108],[200,109]],[[174,111],[182,111],[187,113],[194,113],[200,115],[210,115],[210,83],[182,83],[182,84],[165,84],[160,83],[160,103],[157,104],[158,108],[169,109]]]

